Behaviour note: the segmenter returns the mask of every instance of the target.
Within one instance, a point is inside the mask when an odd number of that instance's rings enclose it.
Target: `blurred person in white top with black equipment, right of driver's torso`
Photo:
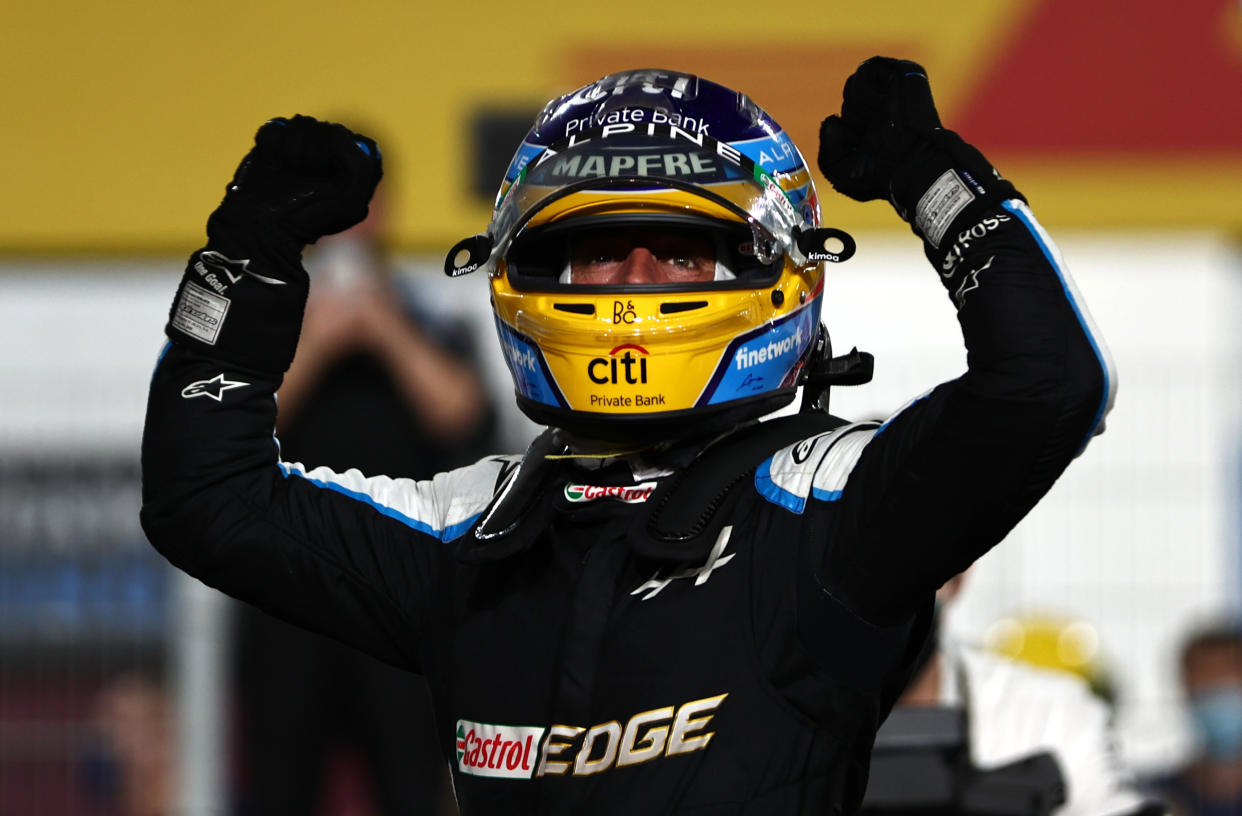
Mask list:
[[[950,796],[963,796],[972,782],[987,773],[1015,766],[1040,753],[1047,753],[1059,773],[1038,773],[1032,768],[1016,771],[1004,782],[989,787],[1012,791],[1000,812],[1042,814],[1056,816],[1155,816],[1165,812],[1164,805],[1140,792],[1133,774],[1124,766],[1113,734],[1109,704],[1092,692],[1087,681],[1076,673],[1036,666],[992,651],[975,648],[945,637],[945,612],[958,597],[965,573],[951,579],[936,592],[933,636],[923,652],[920,668],[899,698],[889,722],[881,728],[877,750],[915,735],[923,745],[938,745],[949,756],[954,789]],[[905,719],[912,709],[944,709],[959,713],[956,719]],[[914,724],[913,730],[910,723]],[[960,741],[955,723],[963,724]],[[943,734],[935,734],[943,729]],[[888,734],[886,734],[886,730]],[[898,735],[897,732],[904,732]],[[886,740],[886,737],[891,737]],[[893,764],[891,768],[903,769]],[[873,776],[868,799],[878,801],[884,791],[877,785],[895,784],[914,787],[923,785],[920,769],[904,765],[899,777]],[[1048,770],[1048,769],[1046,769]],[[1059,779],[1057,779],[1059,776]],[[997,777],[999,779],[999,777]],[[1026,787],[1038,789],[1028,795]],[[936,795],[936,785],[928,787]],[[975,790],[982,790],[975,785]],[[1022,791],[1022,792],[1020,792]],[[1030,801],[1061,801],[1053,810],[1035,805],[1023,810],[1023,797]],[[929,802],[930,805],[930,802]],[[864,802],[864,812],[867,804]],[[893,812],[872,809],[871,812]],[[958,799],[945,810],[930,812],[982,814]]]

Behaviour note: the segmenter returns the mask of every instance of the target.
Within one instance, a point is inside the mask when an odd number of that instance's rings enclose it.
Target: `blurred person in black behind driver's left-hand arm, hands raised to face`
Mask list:
[[[310,296],[277,436],[288,462],[428,478],[488,453],[494,416],[466,327],[394,273],[381,193],[365,221],[307,253]],[[253,607],[238,625],[242,814],[455,812],[421,677]],[[359,764],[369,807],[328,785]]]

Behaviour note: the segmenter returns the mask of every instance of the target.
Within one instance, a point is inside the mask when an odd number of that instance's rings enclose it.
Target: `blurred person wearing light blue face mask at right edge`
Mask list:
[[[1242,814],[1242,626],[1212,625],[1191,633],[1181,648],[1181,683],[1196,751],[1154,786],[1179,816]]]

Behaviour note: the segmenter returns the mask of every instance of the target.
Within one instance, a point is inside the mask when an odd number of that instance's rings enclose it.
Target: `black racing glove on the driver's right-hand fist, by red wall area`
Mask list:
[[[930,247],[1022,197],[979,150],[940,127],[919,63],[872,57],[842,96],[841,114],[820,124],[820,171],[851,199],[887,199]]]

